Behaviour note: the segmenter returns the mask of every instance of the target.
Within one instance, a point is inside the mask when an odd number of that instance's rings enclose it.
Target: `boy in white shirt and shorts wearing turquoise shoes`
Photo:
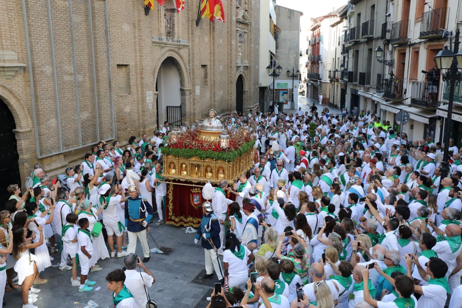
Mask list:
[[[96,282],[87,280],[88,271],[90,271],[90,259],[91,254],[93,253],[93,245],[91,240],[91,233],[87,229],[90,227],[90,222],[88,218],[79,219],[79,230],[77,231],[77,241],[78,241],[78,253],[80,261],[80,287],[79,292],[86,292],[93,290],[92,285],[95,285]]]

